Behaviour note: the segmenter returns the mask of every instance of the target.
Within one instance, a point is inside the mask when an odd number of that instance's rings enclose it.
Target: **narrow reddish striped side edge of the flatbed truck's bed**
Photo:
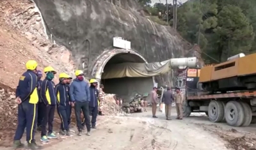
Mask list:
[[[205,99],[216,99],[216,98],[252,98],[254,96],[256,96],[256,91],[188,96],[187,100],[205,100]]]

